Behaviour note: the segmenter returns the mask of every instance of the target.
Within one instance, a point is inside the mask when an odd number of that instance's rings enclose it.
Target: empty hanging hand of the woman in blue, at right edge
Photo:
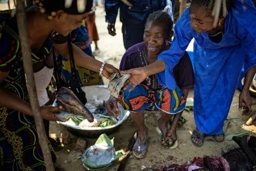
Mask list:
[[[243,107],[243,103],[245,104],[244,107]],[[242,115],[247,116],[251,113],[251,104],[252,104],[252,100],[251,100],[250,93],[248,90],[243,88],[239,96],[239,111],[242,110],[242,107],[244,109]]]

